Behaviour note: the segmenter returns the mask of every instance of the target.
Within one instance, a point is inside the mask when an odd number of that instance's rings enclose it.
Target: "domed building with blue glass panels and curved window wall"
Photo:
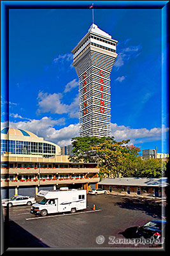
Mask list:
[[[3,154],[38,155],[48,158],[60,155],[60,147],[30,131],[4,127],[1,128],[1,155]]]

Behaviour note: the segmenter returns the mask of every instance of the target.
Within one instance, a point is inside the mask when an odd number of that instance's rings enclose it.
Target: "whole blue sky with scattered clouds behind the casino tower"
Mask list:
[[[88,32],[92,10],[10,9],[9,17],[10,126],[69,145],[79,127],[71,51]],[[111,72],[112,135],[158,152],[162,132],[164,138],[169,134],[169,127],[162,127],[161,19],[160,9],[94,10],[94,23],[118,40]],[[2,125],[6,104],[1,94]],[[169,145],[164,148],[169,152]]]

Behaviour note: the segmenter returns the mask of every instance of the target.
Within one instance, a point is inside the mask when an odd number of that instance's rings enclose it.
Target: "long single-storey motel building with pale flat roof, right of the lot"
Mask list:
[[[98,183],[99,188],[113,193],[143,195],[143,196],[166,196],[167,178],[107,178]]]

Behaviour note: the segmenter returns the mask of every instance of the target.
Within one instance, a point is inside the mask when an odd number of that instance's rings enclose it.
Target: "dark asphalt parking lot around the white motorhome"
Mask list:
[[[93,211],[93,205],[96,211]],[[9,209],[8,247],[15,248],[153,248],[155,244],[118,243],[135,236],[136,227],[165,218],[164,201],[126,195],[87,195],[87,209],[74,214],[35,216],[30,206]],[[3,207],[4,218],[8,211]],[[163,216],[162,216],[163,215]],[[113,238],[117,243],[113,243]],[[112,240],[111,240],[112,238]]]

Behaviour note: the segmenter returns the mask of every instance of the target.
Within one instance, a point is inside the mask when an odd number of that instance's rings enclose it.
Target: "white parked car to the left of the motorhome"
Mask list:
[[[35,204],[36,200],[34,197],[29,197],[29,196],[11,196],[9,199],[3,199],[2,200],[2,205],[3,206],[13,206],[13,205],[32,205]]]

